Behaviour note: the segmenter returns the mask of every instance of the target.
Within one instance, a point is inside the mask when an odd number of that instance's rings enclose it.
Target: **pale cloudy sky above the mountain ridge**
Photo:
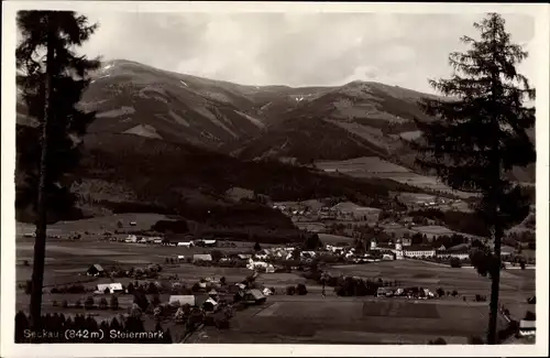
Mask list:
[[[484,14],[86,13],[99,29],[81,51],[243,85],[337,86],[373,80],[435,93],[452,74],[449,53],[476,36]],[[512,41],[530,51],[535,21],[505,14]],[[532,47],[532,45],[531,45]],[[532,78],[535,58],[520,72]],[[531,79],[532,80],[532,79]]]

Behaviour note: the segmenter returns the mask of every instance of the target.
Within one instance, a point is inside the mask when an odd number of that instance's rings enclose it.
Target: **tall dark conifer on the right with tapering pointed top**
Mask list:
[[[462,37],[470,50],[449,57],[453,76],[430,82],[449,100],[425,101],[426,112],[440,120],[416,120],[424,132],[416,147],[420,165],[455,189],[481,194],[475,208],[491,230],[494,248],[477,248],[471,259],[481,274],[492,279],[487,343],[497,344],[501,242],[504,230],[529,213],[526,195],[506,180],[506,173],[536,160],[527,137],[535,109],[524,105],[526,98],[535,98],[535,89],[516,70],[527,53],[510,42],[504,19],[490,13],[474,26],[481,40]]]

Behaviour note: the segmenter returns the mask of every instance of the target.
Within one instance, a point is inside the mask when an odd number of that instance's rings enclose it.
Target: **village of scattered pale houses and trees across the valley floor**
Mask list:
[[[282,206],[277,205],[288,213]],[[294,211],[288,213],[293,218],[302,215]],[[319,209],[319,213],[322,211],[324,209]],[[342,211],[345,213],[336,211],[340,220],[338,224],[356,224],[361,220],[359,223],[370,221],[372,227],[385,225],[378,219],[380,211],[376,216],[376,213],[372,214],[373,210],[369,214],[362,210],[364,215],[358,221]],[[188,341],[200,340],[197,338],[200,332],[218,335],[210,332],[209,327],[220,332],[231,330],[237,329],[230,328],[234,327],[231,322],[237,325],[240,319],[254,319],[244,312],[292,307],[293,303],[286,299],[290,296],[296,297],[294,300],[297,302],[306,300],[320,306],[330,303],[334,307],[339,302],[348,305],[345,300],[351,297],[365,297],[365,302],[374,305],[385,305],[387,303],[384,302],[389,302],[386,300],[392,300],[395,302],[392,305],[398,310],[395,313],[397,316],[399,310],[405,310],[399,307],[422,301],[435,302],[438,308],[430,310],[438,312],[450,310],[449,305],[462,307],[460,310],[486,305],[486,284],[476,283],[469,288],[471,283],[460,283],[462,275],[475,274],[469,257],[475,242],[472,239],[466,238],[462,243],[447,247],[437,235],[430,238],[420,234],[378,235],[366,239],[365,236],[353,234],[346,236],[345,232],[327,234],[304,229],[304,242],[275,245],[242,242],[230,238],[200,238],[193,234],[163,234],[152,230],[158,228],[157,223],[142,219],[140,215],[127,215],[109,225],[103,223],[100,225],[102,229],[52,236],[51,247],[54,251],[58,250],[53,257],[64,257],[63,252],[69,251],[76,253],[77,265],[81,269],[76,269],[74,256],[69,260],[75,263],[58,263],[61,269],[53,271],[70,273],[64,273],[64,280],[61,280],[61,273],[54,274],[52,285],[45,289],[46,311],[64,312],[65,315],[91,314],[105,319],[112,318],[112,314],[117,313],[122,314],[122,321],[140,316],[148,325],[168,326],[172,339]],[[32,235],[23,235],[22,239],[32,239]],[[420,243],[416,243],[419,240]],[[90,246],[87,249],[89,254],[78,257],[76,246]],[[98,254],[112,253],[98,257],[96,262],[88,261],[85,269],[82,259],[97,257],[95,251]],[[519,261],[515,251],[510,251],[503,250],[505,268],[532,272],[531,264]],[[133,256],[136,260],[128,260],[128,257]],[[22,270],[25,270],[25,264],[23,262]],[[402,271],[400,268],[408,269]],[[436,276],[441,279],[424,279]],[[23,294],[28,288],[24,281],[20,282],[20,294]],[[503,314],[503,319],[518,322],[519,326],[514,333],[517,337],[531,337],[534,327],[524,329],[530,325],[530,321],[518,316],[534,302],[534,294],[527,291],[519,299],[524,303],[517,304],[517,293],[510,292],[514,297],[510,297],[509,303],[503,300],[502,311],[514,312],[509,318],[504,318],[508,316]],[[25,300],[18,302],[21,305]],[[260,319],[263,316],[256,313],[254,317]],[[194,323],[190,324],[189,319]],[[260,321],[264,319],[266,317]],[[471,324],[461,329],[475,330],[473,326]]]

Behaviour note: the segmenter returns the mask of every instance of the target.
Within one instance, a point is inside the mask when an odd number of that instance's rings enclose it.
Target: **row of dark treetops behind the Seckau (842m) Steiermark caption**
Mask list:
[[[146,330],[143,321],[135,316],[120,316],[98,323],[91,316],[64,314],[42,315],[38,329],[31,329],[30,317],[23,312],[15,315],[16,344],[44,343],[125,343],[125,344],[170,344],[169,328],[164,330],[160,323],[154,330]]]

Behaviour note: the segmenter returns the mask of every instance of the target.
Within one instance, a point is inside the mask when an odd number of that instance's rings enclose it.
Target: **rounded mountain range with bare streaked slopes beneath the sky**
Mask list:
[[[427,97],[435,96],[372,82],[333,87],[244,86],[116,59],[92,75],[79,106],[97,113],[85,138],[87,150],[96,154],[156,155],[158,163],[178,165],[178,158],[200,153],[233,166],[378,156],[418,171],[409,142],[420,135],[413,119],[430,119],[418,107]],[[21,101],[18,124],[33,126]],[[207,172],[212,165],[191,162]],[[112,165],[125,164],[119,160]],[[170,175],[165,170],[154,172]],[[221,181],[219,175],[229,172],[227,166],[212,174]],[[514,175],[532,183],[534,166]],[[237,174],[230,176],[228,185],[243,181]]]

